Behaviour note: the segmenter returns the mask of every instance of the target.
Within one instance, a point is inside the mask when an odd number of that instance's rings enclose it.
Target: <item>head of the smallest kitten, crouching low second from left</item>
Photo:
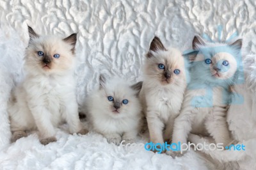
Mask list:
[[[106,79],[100,75],[99,98],[102,114],[108,114],[113,118],[123,118],[140,114],[141,105],[138,98],[142,82],[133,85],[127,84],[124,80],[113,79],[106,82]]]

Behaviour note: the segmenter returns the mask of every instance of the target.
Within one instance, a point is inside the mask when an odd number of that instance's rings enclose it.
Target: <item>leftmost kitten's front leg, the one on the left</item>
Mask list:
[[[40,143],[46,145],[56,142],[56,132],[51,122],[51,112],[42,105],[29,104],[29,109],[40,132]]]

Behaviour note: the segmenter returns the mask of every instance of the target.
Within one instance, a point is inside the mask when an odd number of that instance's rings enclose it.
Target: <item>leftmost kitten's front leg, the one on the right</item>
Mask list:
[[[87,134],[88,130],[82,127],[81,121],[79,120],[78,106],[76,102],[67,102],[63,111],[65,120],[68,123],[70,134]]]

